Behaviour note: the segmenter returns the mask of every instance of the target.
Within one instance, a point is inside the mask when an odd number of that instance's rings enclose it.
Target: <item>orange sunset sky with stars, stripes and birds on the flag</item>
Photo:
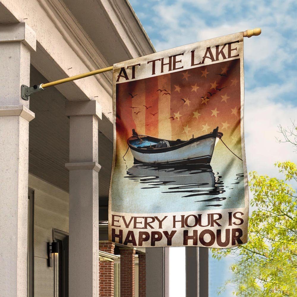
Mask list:
[[[240,91],[240,59],[117,84],[117,153],[126,151],[132,129],[188,140],[218,126],[224,142],[240,146]]]

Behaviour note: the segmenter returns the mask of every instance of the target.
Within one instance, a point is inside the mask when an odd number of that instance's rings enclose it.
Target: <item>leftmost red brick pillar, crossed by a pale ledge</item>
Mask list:
[[[115,244],[109,241],[99,242],[99,250],[114,254]],[[99,296],[113,297],[114,296],[114,266],[113,261],[100,260],[99,263]]]

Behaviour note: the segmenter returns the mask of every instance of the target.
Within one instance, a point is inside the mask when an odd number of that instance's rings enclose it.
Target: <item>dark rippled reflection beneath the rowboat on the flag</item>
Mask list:
[[[127,176],[143,184],[141,189],[160,188],[161,193],[180,193],[181,197],[220,195],[225,192],[224,183],[210,165],[151,166],[135,164],[127,170]],[[152,192],[152,194],[154,194]],[[209,196],[208,196],[209,197]],[[200,201],[221,201],[225,197],[207,198]]]

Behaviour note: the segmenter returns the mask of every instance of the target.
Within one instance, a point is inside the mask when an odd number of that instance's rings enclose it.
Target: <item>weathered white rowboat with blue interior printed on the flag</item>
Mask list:
[[[127,143],[136,164],[210,164],[214,147],[223,136],[223,133],[218,131],[219,127],[211,133],[189,140],[164,140],[138,135],[133,129]]]

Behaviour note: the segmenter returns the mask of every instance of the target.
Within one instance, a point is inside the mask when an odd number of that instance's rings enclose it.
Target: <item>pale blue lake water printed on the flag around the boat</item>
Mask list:
[[[113,211],[150,214],[245,207],[243,163],[220,143],[210,165],[134,164],[130,151],[121,160],[124,166],[116,167],[113,175]]]

